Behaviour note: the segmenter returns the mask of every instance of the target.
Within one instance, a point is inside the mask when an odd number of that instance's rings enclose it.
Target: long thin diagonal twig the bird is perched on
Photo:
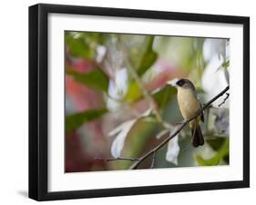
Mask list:
[[[215,102],[217,99],[220,98],[220,96],[222,96],[224,93],[226,93],[228,90],[230,89],[230,86],[227,86],[222,92],[220,92],[218,95],[216,95],[214,98],[212,98],[210,100],[210,102],[207,102],[201,109],[199,112],[197,112],[195,115],[193,115],[192,117],[190,117],[187,121],[183,122],[179,128],[173,132],[172,134],[169,135],[168,138],[166,138],[164,141],[160,142],[159,145],[157,147],[155,147],[154,149],[152,149],[151,151],[148,151],[146,154],[144,154],[142,157],[138,158],[138,161],[135,161],[131,166],[130,166],[130,170],[136,170],[139,166],[139,164],[142,163],[142,161],[146,160],[148,158],[148,156],[150,156],[151,154],[153,154],[156,151],[159,151],[159,149],[161,147],[163,147],[165,144],[167,144],[172,138],[174,138],[190,121],[192,121],[193,119],[195,119],[196,117],[198,117],[201,112],[203,112],[206,108],[208,108],[210,106],[210,104],[212,102]]]

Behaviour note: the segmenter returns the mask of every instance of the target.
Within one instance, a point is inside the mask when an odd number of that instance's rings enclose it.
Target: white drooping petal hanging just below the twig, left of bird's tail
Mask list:
[[[171,134],[171,133],[170,133]],[[168,148],[166,152],[166,160],[178,165],[179,156],[179,135],[176,135],[168,142]]]

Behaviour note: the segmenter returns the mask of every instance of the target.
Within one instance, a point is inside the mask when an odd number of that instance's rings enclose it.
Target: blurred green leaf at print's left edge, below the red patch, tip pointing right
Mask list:
[[[66,132],[76,130],[83,123],[93,121],[103,114],[108,112],[106,108],[99,110],[88,110],[86,112],[79,112],[70,116],[66,116]]]

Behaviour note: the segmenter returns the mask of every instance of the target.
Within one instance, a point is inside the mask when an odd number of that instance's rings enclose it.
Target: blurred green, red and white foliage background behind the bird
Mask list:
[[[162,123],[182,121],[169,80],[189,78],[202,103],[229,83],[229,39],[67,31],[65,42],[67,172],[125,170],[132,161],[105,160],[137,158],[164,140]],[[154,168],[229,164],[229,99],[220,102],[205,111],[205,145],[193,148],[183,129]]]

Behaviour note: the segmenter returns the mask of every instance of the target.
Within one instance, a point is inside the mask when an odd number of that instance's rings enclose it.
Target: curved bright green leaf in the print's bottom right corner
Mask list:
[[[228,156],[229,152],[230,152],[230,141],[229,141],[229,138],[227,138],[224,144],[221,146],[220,150],[217,151],[215,156],[213,156],[209,160],[205,160],[200,155],[196,155],[196,160],[201,166],[214,166],[214,165],[218,165],[223,158]]]

